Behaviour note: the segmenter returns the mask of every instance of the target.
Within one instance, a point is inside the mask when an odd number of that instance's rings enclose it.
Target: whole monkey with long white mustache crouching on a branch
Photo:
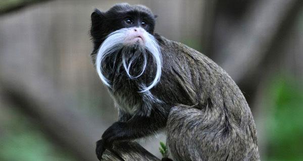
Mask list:
[[[260,160],[254,118],[233,79],[204,54],[155,33],[156,18],[129,4],[91,14],[90,55],[118,109],[96,142],[97,158],[115,141],[165,130],[173,160]]]

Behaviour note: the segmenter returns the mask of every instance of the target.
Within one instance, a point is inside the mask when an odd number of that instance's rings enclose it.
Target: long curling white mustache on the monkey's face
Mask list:
[[[119,51],[120,49],[123,48],[123,46],[126,45],[125,40],[127,38],[127,32],[129,30],[132,30],[132,28],[123,28],[123,29],[120,29],[120,30],[117,30],[117,31],[111,33],[105,39],[105,41],[100,45],[98,52],[97,52],[97,56],[96,56],[97,73],[98,73],[100,79],[102,80],[102,82],[110,88],[111,88],[110,81],[103,74],[103,69],[101,67],[101,64],[103,63],[103,61],[105,60],[105,58],[107,56],[111,55],[112,53],[115,53],[115,51]],[[162,73],[162,55],[161,55],[160,46],[159,46],[157,40],[155,39],[155,37],[153,35],[149,34],[146,31],[144,32],[144,38],[145,38],[144,47],[147,51],[149,51],[151,53],[151,55],[153,56],[154,63],[156,64],[156,75],[155,75],[154,80],[149,85],[143,85],[143,84],[140,85],[141,91],[139,91],[139,92],[141,92],[141,93],[147,92],[151,88],[155,87],[157,85],[157,83],[160,81],[160,77],[161,77],[161,73]],[[131,59],[129,61],[129,63],[127,64],[125,55],[122,55],[124,69],[125,69],[128,77],[131,79],[141,76],[146,69],[146,64],[147,64],[146,54],[147,53],[145,52],[142,54],[144,57],[142,71],[136,76],[133,76],[130,74],[130,66],[132,65],[133,59]]]

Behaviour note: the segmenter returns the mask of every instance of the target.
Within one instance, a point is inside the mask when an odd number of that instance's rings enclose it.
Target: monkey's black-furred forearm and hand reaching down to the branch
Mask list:
[[[97,141],[96,154],[100,159],[106,148],[111,148],[114,141],[132,140],[154,134],[164,128],[167,114],[160,111],[152,111],[149,116],[134,115],[126,122],[115,122]]]

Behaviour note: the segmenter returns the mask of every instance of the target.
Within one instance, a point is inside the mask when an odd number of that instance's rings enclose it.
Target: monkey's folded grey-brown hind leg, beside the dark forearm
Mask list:
[[[247,137],[249,130],[235,129],[227,119],[220,110],[173,107],[167,121],[167,145],[173,159],[258,160],[253,156],[256,144]]]

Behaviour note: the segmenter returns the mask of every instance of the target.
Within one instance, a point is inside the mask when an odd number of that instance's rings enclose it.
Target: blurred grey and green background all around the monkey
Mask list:
[[[303,1],[0,1],[0,160],[97,160],[117,119],[89,54],[90,14],[143,4],[156,32],[212,58],[256,120],[262,160],[303,160]],[[141,141],[161,156],[164,135]]]

